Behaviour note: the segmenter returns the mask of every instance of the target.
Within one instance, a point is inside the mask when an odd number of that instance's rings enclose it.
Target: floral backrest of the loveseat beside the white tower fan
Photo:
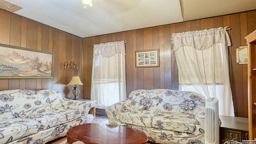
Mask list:
[[[193,110],[197,106],[205,106],[204,96],[196,92],[174,91],[170,89],[135,90],[130,93],[130,96],[141,96],[141,93],[144,96],[147,95],[145,97],[150,97],[150,106],[147,108],[150,110],[193,114]]]

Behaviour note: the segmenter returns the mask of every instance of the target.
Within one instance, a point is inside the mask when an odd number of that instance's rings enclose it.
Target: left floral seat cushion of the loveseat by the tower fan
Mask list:
[[[152,118],[157,112],[157,110],[132,110],[131,112],[122,112],[120,114],[120,121],[136,126],[152,127]]]

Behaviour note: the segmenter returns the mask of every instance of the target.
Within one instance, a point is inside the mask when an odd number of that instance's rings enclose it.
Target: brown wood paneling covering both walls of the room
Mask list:
[[[244,37],[256,29],[256,10],[177,24],[142,28],[101,36],[80,38],[56,28],[0,10],[0,43],[55,53],[54,78],[0,79],[0,90],[56,89],[73,98],[72,76],[78,75],[84,86],[80,97],[90,99],[94,44],[125,40],[127,95],[132,90],[170,88],[178,90],[178,70],[171,49],[172,33],[228,26],[232,41],[229,50],[230,82],[235,115],[248,117],[247,65],[236,64],[236,47],[245,46]],[[135,51],[160,49],[160,67],[136,68]],[[79,72],[64,72],[63,63],[75,60]]]

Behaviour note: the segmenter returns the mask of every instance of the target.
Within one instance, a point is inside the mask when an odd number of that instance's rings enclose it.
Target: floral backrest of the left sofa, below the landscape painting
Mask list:
[[[0,91],[0,121],[60,108],[62,97],[56,90]]]

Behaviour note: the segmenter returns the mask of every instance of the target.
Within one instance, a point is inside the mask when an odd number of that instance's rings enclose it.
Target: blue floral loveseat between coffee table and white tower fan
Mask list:
[[[109,124],[142,130],[160,144],[204,144],[205,98],[189,91],[135,90],[106,108]]]

